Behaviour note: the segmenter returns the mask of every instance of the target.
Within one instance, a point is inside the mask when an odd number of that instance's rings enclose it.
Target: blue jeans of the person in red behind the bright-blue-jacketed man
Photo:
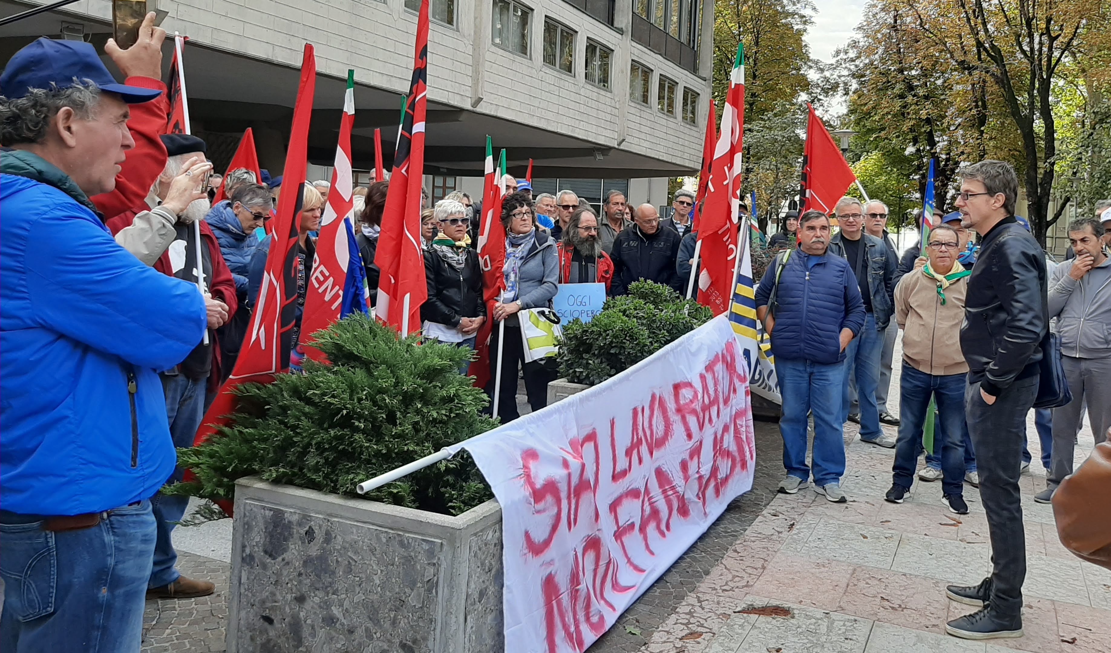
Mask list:
[[[178,448],[192,446],[197,429],[204,419],[204,390],[208,379],[193,381],[184,374],[161,374],[162,391],[166,392],[166,416],[170,420],[170,438]],[[174,468],[168,483],[181,481],[184,471]],[[149,587],[162,587],[181,575],[173,565],[178,563],[178,552],[173,550],[170,533],[177,522],[186,515],[188,496],[156,494],[150,500],[158,525],[154,542],[154,564],[150,573]]]

